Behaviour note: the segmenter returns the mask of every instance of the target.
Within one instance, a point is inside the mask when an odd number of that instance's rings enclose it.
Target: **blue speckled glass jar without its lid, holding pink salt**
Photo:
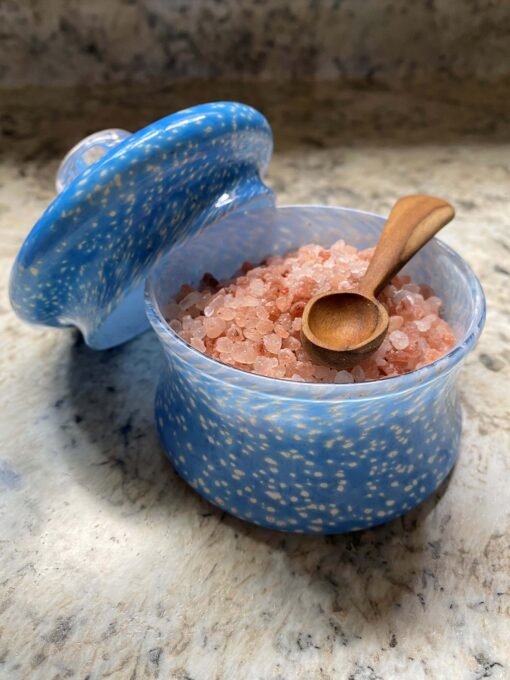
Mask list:
[[[180,284],[197,283],[204,271],[228,276],[244,260],[313,241],[367,247],[383,224],[341,208],[247,211],[176,248],[151,274],[147,311],[167,359],[157,427],[178,473],[211,503],[273,529],[341,533],[405,513],[451,470],[461,434],[458,372],[483,327],[485,303],[473,272],[440,241],[406,271],[434,285],[458,342],[405,376],[349,385],[265,378],[202,355],[165,322]]]

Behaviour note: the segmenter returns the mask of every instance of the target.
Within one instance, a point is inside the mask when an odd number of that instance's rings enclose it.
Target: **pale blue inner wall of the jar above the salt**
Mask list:
[[[238,211],[175,247],[158,264],[151,276],[155,300],[164,316],[165,306],[183,283],[197,286],[205,272],[217,279],[230,278],[243,262],[258,264],[268,255],[285,254],[307,243],[329,247],[343,239],[358,249],[371,247],[384,223],[378,215],[328,206]],[[478,283],[466,263],[434,239],[402,271],[433,288],[443,301],[443,318],[462,340],[479,302]]]

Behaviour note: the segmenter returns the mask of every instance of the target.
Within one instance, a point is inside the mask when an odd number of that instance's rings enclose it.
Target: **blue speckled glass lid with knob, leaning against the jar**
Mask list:
[[[149,326],[145,279],[176,244],[234,210],[274,205],[261,181],[267,120],[235,102],[195,106],[130,135],[105,130],[71,149],[61,193],[14,263],[10,297],[25,321],[76,326],[95,349]]]

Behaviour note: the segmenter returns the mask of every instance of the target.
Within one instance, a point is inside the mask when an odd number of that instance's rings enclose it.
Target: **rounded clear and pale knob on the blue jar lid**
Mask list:
[[[58,167],[55,180],[57,193],[60,194],[64,189],[67,189],[85,168],[98,161],[107,151],[130,136],[131,133],[126,130],[111,128],[110,130],[94,132],[75,144],[67,152]]]

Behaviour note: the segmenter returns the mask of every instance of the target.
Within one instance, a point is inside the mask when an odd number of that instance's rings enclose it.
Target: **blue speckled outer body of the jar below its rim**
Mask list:
[[[179,475],[214,505],[272,529],[342,533],[403,514],[447,476],[461,432],[456,373],[378,399],[301,402],[169,357],[156,421]]]

